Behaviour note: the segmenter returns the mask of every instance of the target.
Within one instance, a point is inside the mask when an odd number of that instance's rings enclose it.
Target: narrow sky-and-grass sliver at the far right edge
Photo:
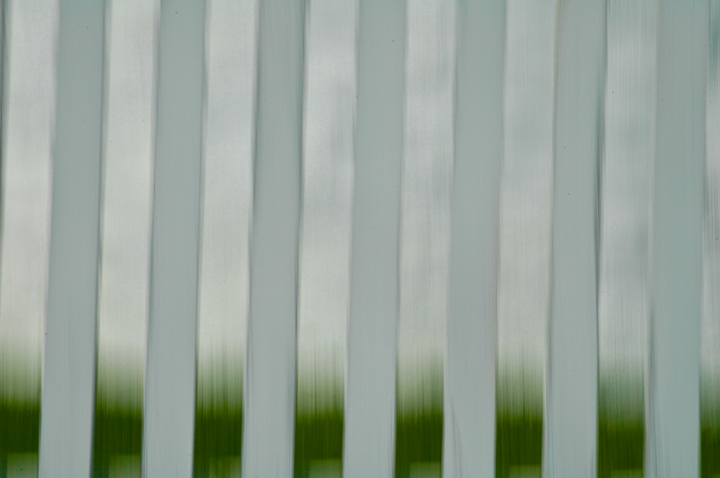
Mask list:
[[[720,474],[720,1],[711,0],[706,104],[700,476]]]

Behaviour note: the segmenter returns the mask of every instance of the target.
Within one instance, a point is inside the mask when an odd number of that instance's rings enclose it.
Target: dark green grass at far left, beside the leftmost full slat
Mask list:
[[[37,453],[40,448],[40,403],[0,400],[0,478],[7,476],[7,457]]]

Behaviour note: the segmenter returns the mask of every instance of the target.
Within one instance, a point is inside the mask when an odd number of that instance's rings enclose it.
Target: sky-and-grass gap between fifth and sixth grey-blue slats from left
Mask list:
[[[507,8],[495,430],[495,473],[503,478],[541,466],[557,7],[510,0]]]

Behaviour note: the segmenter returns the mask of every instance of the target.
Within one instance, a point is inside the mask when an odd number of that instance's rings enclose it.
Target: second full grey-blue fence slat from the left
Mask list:
[[[192,475],[204,1],[161,4],[143,476]]]

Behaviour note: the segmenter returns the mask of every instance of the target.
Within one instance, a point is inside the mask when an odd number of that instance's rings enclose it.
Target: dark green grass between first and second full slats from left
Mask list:
[[[111,409],[96,400],[92,477],[108,478],[110,461],[114,456],[140,456],[142,451],[143,413],[129,407]]]

